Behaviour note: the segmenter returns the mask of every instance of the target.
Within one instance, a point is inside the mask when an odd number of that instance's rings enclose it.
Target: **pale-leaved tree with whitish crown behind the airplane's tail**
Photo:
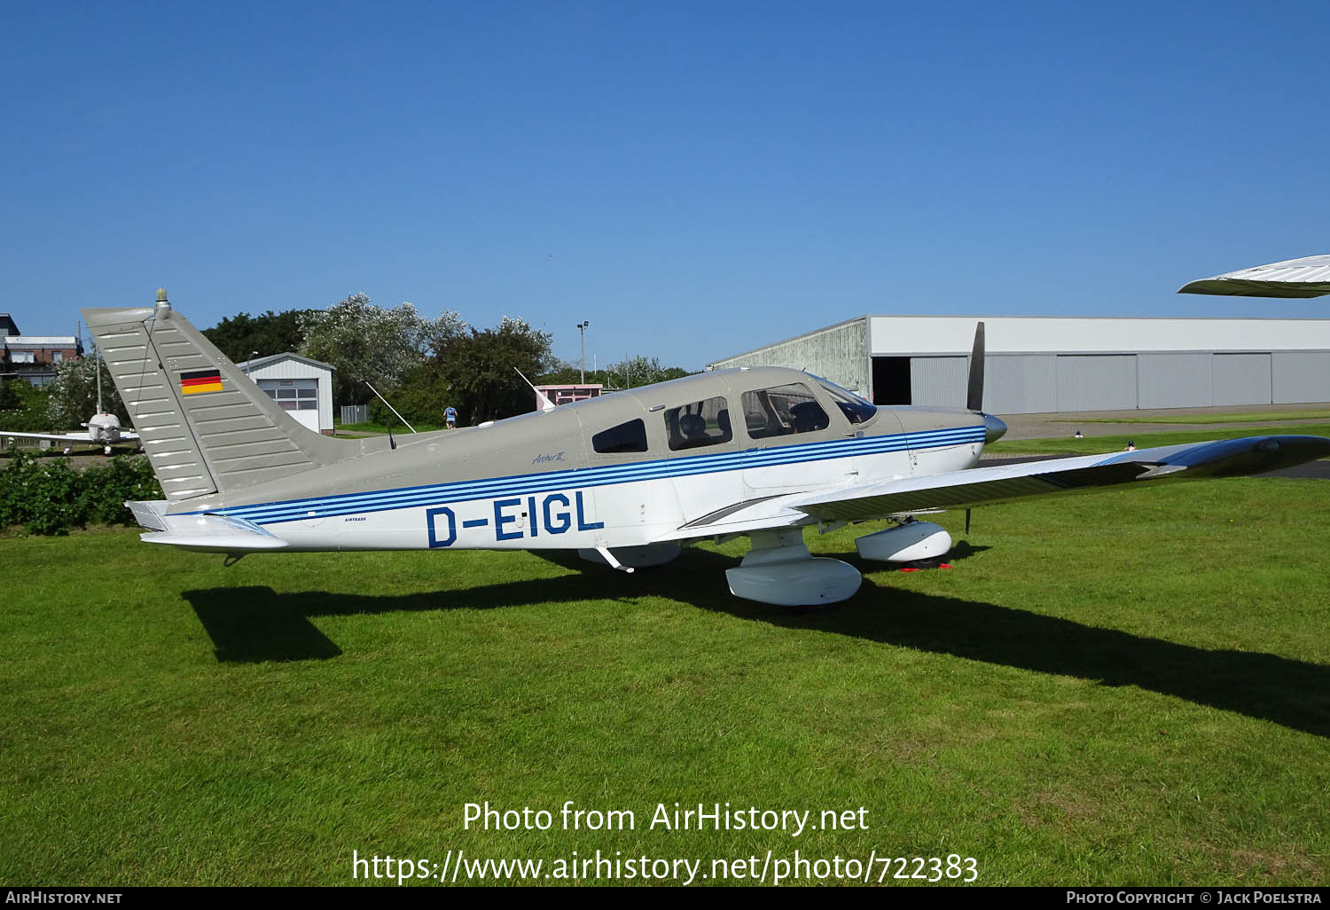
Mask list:
[[[380,392],[396,388],[424,362],[426,351],[447,347],[466,327],[456,313],[423,319],[412,303],[384,310],[364,294],[351,294],[327,310],[301,314],[299,353],[336,369],[336,403],[363,404],[374,398],[367,382]]]

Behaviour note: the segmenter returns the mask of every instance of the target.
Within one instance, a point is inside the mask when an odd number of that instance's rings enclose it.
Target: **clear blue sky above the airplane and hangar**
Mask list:
[[[520,315],[698,369],[1330,251],[1330,4],[0,7],[0,310]]]

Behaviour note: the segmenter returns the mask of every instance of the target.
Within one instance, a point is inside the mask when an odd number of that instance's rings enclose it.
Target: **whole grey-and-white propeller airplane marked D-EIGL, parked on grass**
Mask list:
[[[931,559],[951,537],[920,514],[1330,455],[1330,439],[1266,435],[976,467],[1007,428],[982,411],[983,323],[967,407],[875,407],[799,370],[739,367],[479,427],[332,439],[278,407],[165,291],[152,307],[82,313],[166,495],[129,503],[142,539],[233,557],[577,549],[630,572],[745,535],[732,593],[807,607],[861,583],[810,556],[809,526],[888,519],[857,540],[863,559]]]

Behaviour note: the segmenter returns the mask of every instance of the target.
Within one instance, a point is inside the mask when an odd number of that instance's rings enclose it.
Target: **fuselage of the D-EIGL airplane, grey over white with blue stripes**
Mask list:
[[[972,467],[983,415],[872,407],[797,370],[724,370],[466,430],[172,514],[253,523],[291,549],[636,547],[765,498]]]

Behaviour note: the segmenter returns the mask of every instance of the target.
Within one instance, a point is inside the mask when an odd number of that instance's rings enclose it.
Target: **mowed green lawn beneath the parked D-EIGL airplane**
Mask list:
[[[1330,881],[1330,486],[976,510],[954,568],[912,573],[858,560],[866,530],[809,533],[866,571],[821,612],[730,597],[743,541],[628,576],[0,540],[0,881],[347,885],[352,850],[450,849]],[[564,832],[569,800],[636,829]],[[484,801],[556,825],[464,830]],[[658,802],[863,806],[867,830],[652,830]]]

